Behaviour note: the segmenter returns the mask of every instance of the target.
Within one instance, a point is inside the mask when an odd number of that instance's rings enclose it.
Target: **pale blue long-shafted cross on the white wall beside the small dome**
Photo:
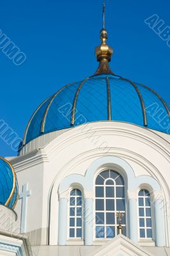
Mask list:
[[[27,197],[31,195],[31,191],[28,190],[28,184],[22,186],[22,192],[19,195],[19,199],[22,200],[21,207],[21,220],[20,220],[20,232],[25,232],[25,221],[27,217]]]

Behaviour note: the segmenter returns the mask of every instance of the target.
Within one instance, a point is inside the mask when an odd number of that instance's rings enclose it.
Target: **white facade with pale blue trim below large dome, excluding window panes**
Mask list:
[[[115,243],[121,249],[113,251],[114,255],[132,255],[122,248],[137,244],[134,255],[170,255],[169,141],[170,136],[161,132],[108,121],[52,132],[25,145],[10,162],[17,173],[19,193],[23,191],[15,208],[17,225],[29,236],[32,252],[110,255],[105,251],[111,252]],[[124,178],[126,236],[130,240],[124,236],[113,241],[96,239],[94,189],[97,174],[103,170],[114,170]],[[69,239],[71,188],[80,189],[83,198],[81,239]],[[139,238],[140,189],[151,195],[152,239]]]

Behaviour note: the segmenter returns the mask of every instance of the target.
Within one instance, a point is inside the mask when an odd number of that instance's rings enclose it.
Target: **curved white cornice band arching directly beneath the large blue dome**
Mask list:
[[[104,127],[103,124],[106,124]],[[56,152],[64,150],[68,145],[75,143],[76,141],[82,140],[85,136],[89,138],[90,134],[92,136],[125,136],[127,138],[135,139],[136,141],[140,141],[145,143],[149,147],[154,148],[159,152],[162,156],[166,157],[167,161],[170,161],[170,153],[169,153],[169,143],[161,138],[159,135],[154,132],[144,129],[143,127],[139,127],[138,125],[127,124],[122,122],[94,122],[90,124],[80,125],[78,127],[74,127],[67,131],[64,134],[61,134],[58,138],[49,143],[45,150],[46,154],[52,159],[57,156]],[[162,143],[160,143],[160,140]],[[167,147],[166,147],[167,146]]]

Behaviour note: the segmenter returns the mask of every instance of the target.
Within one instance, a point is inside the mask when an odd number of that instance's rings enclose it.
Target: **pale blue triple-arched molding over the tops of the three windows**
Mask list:
[[[138,189],[143,188],[143,186],[148,186],[150,191],[161,191],[159,182],[152,177],[148,175],[135,177],[134,170],[124,159],[115,156],[104,156],[98,158],[96,161],[90,164],[85,176],[71,174],[64,178],[60,182],[59,196],[66,193],[70,186],[77,185],[83,188],[85,191],[88,191],[87,196],[93,198],[94,177],[96,173],[101,172],[103,168],[112,168],[113,170],[119,172],[127,182],[127,189],[129,189],[129,191],[138,191]]]

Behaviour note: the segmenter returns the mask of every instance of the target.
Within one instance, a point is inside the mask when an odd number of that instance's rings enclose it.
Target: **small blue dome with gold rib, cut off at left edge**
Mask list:
[[[18,199],[18,184],[13,166],[0,157],[0,204],[13,209]]]

